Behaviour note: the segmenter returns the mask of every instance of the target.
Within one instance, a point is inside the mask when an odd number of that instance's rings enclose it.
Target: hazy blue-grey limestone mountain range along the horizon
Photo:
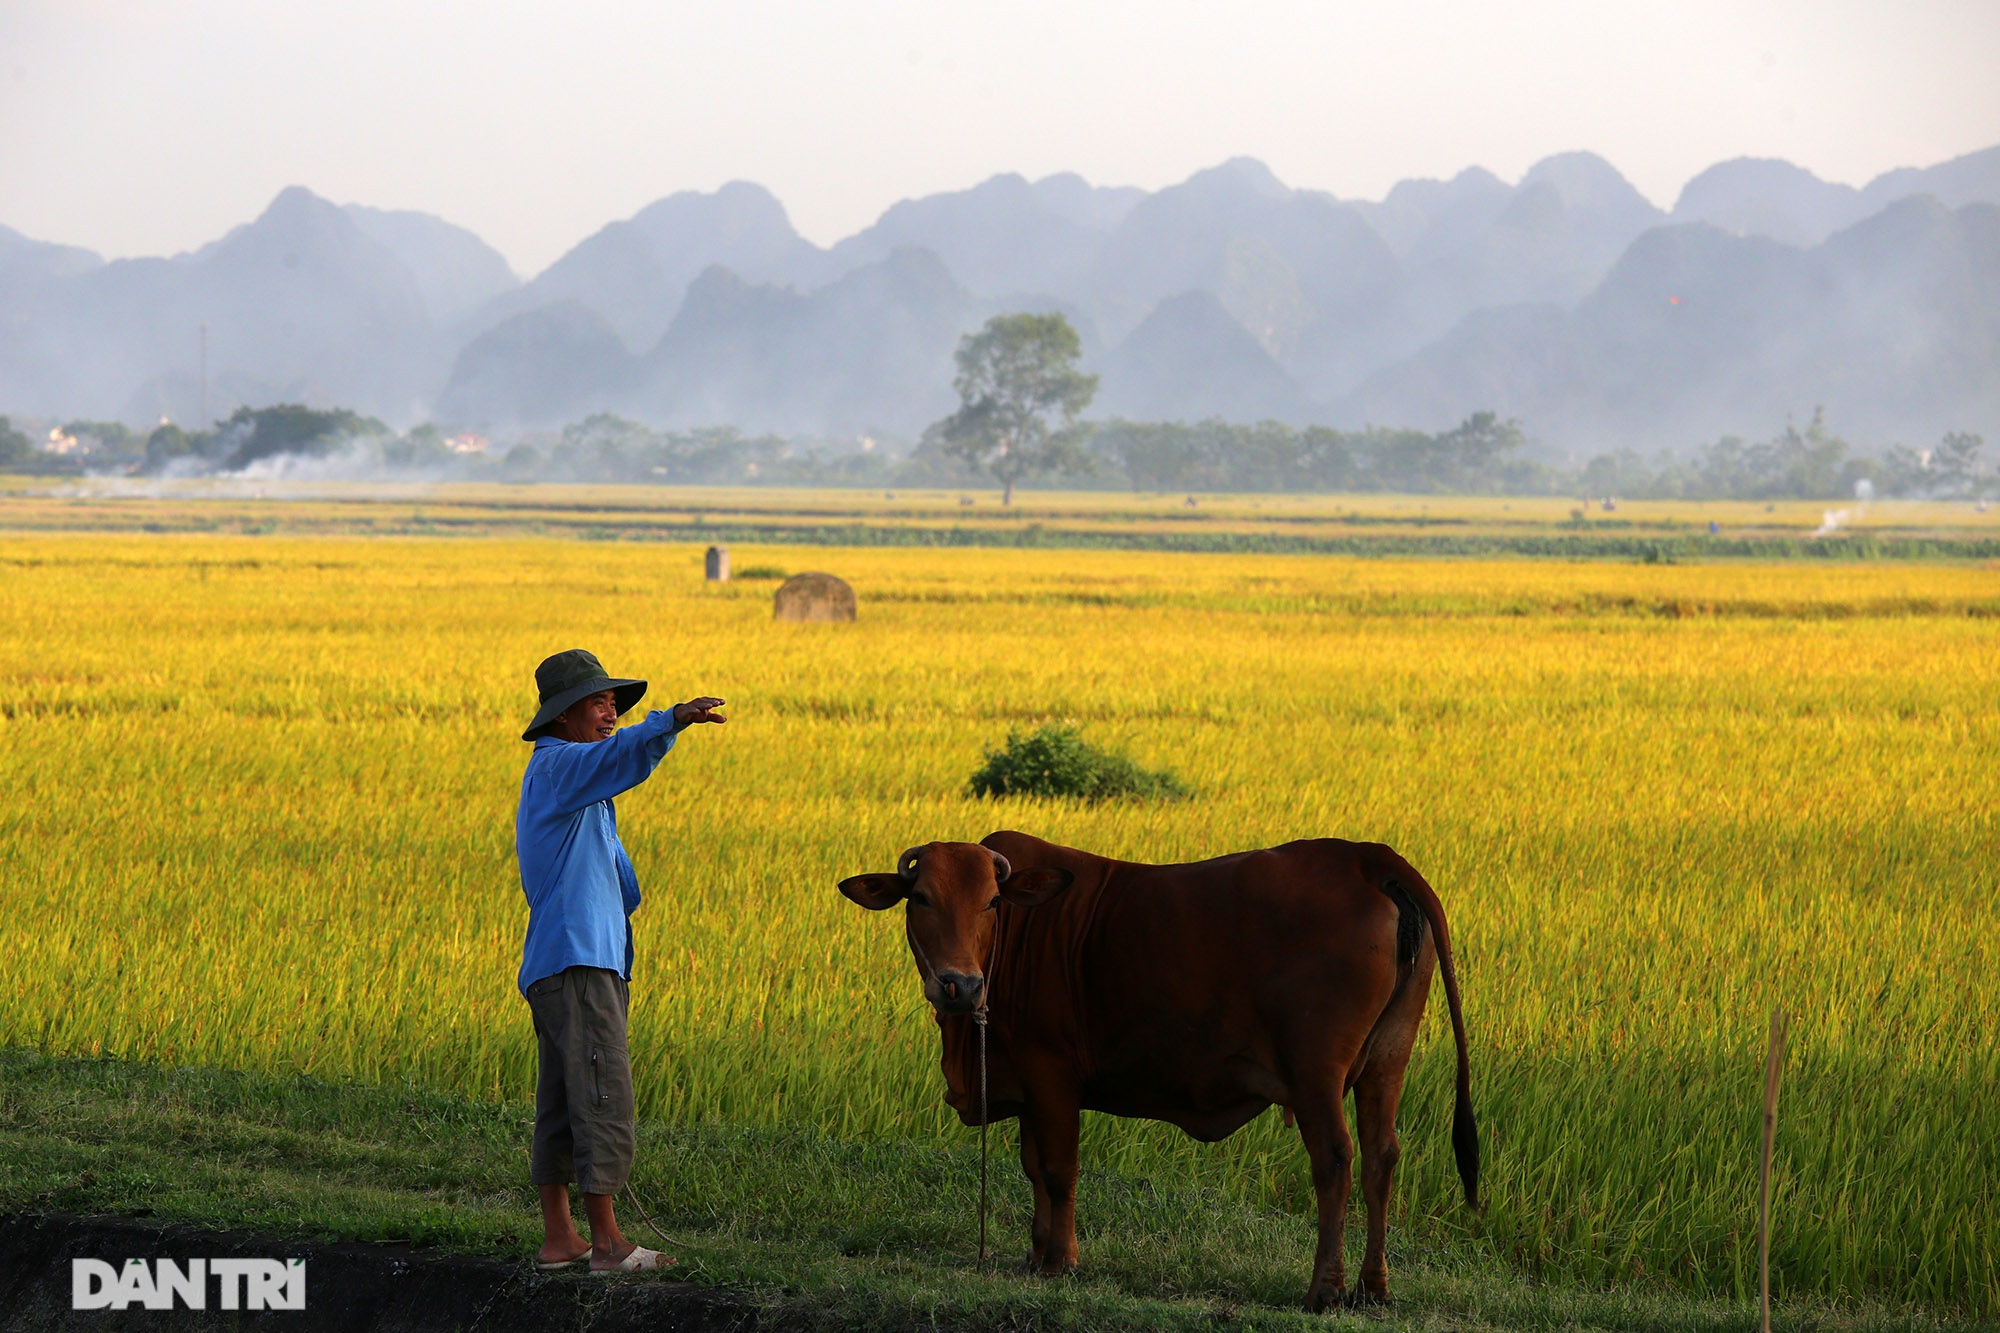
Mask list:
[[[1828,418],[2000,436],[2000,146],[1862,188],[1722,162],[1660,210],[1608,162],[1470,168],[1376,202],[1250,158],[1146,192],[994,176],[820,248],[762,186],[682,192],[522,280],[472,232],[288,188],[172,258],[0,226],[0,412],[192,422],[302,400],[508,432],[662,426],[910,438],[958,336],[1062,310],[1092,414],[1446,426],[1556,450]]]

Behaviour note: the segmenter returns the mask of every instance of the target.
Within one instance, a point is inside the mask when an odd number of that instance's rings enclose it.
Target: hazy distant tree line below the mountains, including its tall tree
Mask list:
[[[300,404],[238,408],[206,430],[162,424],[146,436],[118,422],[58,426],[60,456],[0,416],[0,468],[242,472],[260,462],[336,460],[350,474],[418,472],[468,480],[638,484],[976,486],[1012,504],[1030,480],[1132,490],[1580,494],[1626,498],[1988,496],[2000,478],[1984,440],[1946,434],[1936,448],[1866,454],[1820,412],[1768,440],[1724,436],[1690,454],[1614,450],[1580,468],[1526,454],[1516,420],[1474,412],[1450,430],[1290,426],[1284,422],[1088,422],[1098,378],[1078,368],[1062,314],[1000,314],[960,340],[958,410],[908,452],[800,442],[730,426],[656,430],[594,414],[506,450],[462,452],[436,426],[396,432],[346,410]]]

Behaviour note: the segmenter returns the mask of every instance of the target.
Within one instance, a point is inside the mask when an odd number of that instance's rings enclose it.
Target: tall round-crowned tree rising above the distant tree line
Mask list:
[[[1076,368],[1082,344],[1062,314],[996,314],[958,340],[958,410],[924,432],[926,442],[1000,482],[1038,472],[1090,468],[1076,422],[1098,392],[1098,376]]]

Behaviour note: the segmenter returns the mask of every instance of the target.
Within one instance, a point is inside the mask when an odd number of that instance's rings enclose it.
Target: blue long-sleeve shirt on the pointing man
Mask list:
[[[542,737],[520,781],[514,853],[528,895],[522,993],[566,967],[602,967],[632,979],[638,875],[618,841],[612,797],[632,791],[674,749],[674,715],[648,713],[604,741]]]

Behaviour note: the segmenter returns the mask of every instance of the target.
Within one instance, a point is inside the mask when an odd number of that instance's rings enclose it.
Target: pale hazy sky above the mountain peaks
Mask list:
[[[0,222],[166,254],[304,184],[532,274],[732,178],[826,244],[1004,170],[1378,198],[1570,148],[1670,206],[1996,144],[1996,56],[2000,0],[0,0]]]

